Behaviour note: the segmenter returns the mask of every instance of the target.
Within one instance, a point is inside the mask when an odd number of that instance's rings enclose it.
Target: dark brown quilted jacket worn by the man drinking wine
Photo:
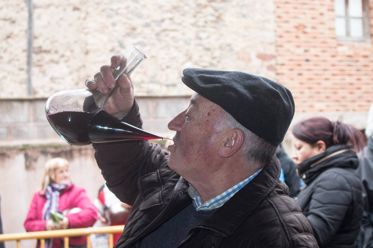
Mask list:
[[[141,127],[137,104],[123,121]],[[137,247],[151,231],[188,206],[189,183],[167,165],[169,155],[147,141],[94,144],[107,186],[132,205],[116,248]],[[312,228],[273,161],[200,225],[185,233],[182,248],[314,248]],[[172,238],[170,235],[164,238]]]

